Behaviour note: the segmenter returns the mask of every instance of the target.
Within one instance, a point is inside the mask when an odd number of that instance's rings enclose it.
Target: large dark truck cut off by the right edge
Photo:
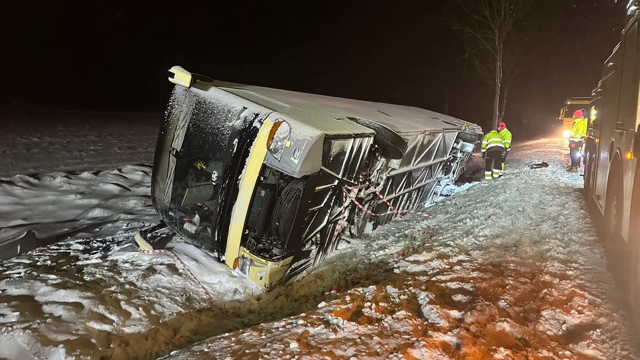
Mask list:
[[[640,60],[637,1],[628,4],[622,40],[604,63],[604,75],[593,90],[584,159],[586,198],[601,215],[611,263],[629,279],[634,319],[640,319]],[[618,266],[616,265],[616,266]],[[625,286],[625,289],[627,286]],[[625,290],[626,291],[626,290]]]

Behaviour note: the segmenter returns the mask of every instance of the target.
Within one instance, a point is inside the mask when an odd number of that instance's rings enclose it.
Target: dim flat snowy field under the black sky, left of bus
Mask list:
[[[149,164],[162,121],[163,113],[0,113],[0,176]]]

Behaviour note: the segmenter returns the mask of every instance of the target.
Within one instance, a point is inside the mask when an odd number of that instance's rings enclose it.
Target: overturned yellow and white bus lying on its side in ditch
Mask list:
[[[169,80],[177,86],[156,148],[154,207],[184,239],[266,289],[324,260],[344,233],[358,237],[423,207],[456,181],[482,135],[416,107],[214,81],[180,67]]]

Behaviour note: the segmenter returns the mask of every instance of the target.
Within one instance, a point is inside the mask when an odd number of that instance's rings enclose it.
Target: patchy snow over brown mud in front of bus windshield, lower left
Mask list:
[[[170,254],[143,254],[127,239],[68,240],[0,267],[0,358],[149,356],[163,347],[149,332],[177,314],[211,306]],[[219,304],[260,290],[205,251],[180,240],[168,247]],[[180,318],[184,334],[197,318]],[[62,357],[66,358],[66,357]]]

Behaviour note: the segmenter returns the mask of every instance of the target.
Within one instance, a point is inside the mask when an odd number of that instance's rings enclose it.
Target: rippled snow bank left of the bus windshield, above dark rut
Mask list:
[[[0,241],[29,230],[40,239],[67,233],[108,237],[157,221],[150,173],[148,166],[125,166],[3,179]]]

